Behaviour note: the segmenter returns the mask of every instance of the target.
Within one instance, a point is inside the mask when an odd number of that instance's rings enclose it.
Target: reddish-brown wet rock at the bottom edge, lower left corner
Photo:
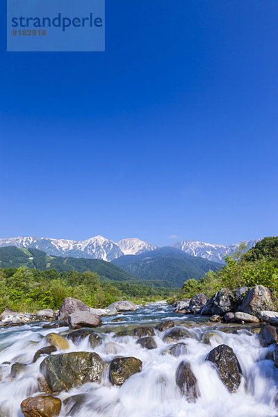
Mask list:
[[[60,414],[62,402],[60,398],[40,395],[26,398],[20,407],[26,417],[56,417]]]

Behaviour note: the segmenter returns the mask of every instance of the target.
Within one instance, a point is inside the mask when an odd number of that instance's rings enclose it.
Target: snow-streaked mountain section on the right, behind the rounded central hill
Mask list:
[[[250,248],[259,241],[260,239],[248,240],[245,242],[247,247]],[[208,259],[209,261],[223,262],[223,256],[233,252],[238,245],[212,245],[211,243],[198,242],[197,240],[183,240],[181,242],[174,243],[171,245],[176,247],[188,255],[200,256],[201,258]]]

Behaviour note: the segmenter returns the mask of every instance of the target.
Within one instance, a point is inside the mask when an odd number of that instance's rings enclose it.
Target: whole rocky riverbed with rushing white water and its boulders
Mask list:
[[[2,327],[0,417],[278,416],[275,326],[165,304],[101,321]]]

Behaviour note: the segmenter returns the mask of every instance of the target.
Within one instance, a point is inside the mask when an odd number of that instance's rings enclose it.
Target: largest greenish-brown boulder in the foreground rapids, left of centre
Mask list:
[[[52,392],[68,391],[86,382],[99,382],[104,361],[95,352],[70,352],[46,357],[40,364]]]

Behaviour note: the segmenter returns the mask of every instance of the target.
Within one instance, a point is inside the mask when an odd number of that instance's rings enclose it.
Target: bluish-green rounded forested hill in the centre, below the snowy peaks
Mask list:
[[[138,255],[126,255],[112,261],[140,279],[163,279],[172,286],[182,286],[187,279],[200,279],[208,270],[222,265],[190,256],[174,247],[161,247]]]

